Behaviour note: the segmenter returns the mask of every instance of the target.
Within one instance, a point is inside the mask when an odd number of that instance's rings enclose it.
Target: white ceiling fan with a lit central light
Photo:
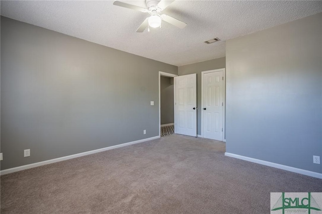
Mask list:
[[[141,8],[135,5],[130,5],[127,3],[115,1],[113,5],[120,6],[123,8],[128,8],[136,11],[140,11],[143,13],[148,13],[150,17],[146,18],[143,23],[140,25],[140,27],[136,30],[138,33],[142,33],[147,27],[149,31],[149,27],[151,28],[158,28],[161,27],[161,21],[168,22],[180,29],[183,29],[186,27],[186,23],[181,22],[180,20],[177,20],[171,16],[168,16],[166,14],[160,15],[160,13],[165,10],[171,3],[173,3],[175,0],[145,0],[146,8]]]

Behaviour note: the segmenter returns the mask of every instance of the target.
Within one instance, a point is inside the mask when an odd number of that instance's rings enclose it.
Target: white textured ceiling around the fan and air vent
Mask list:
[[[145,7],[143,1],[124,1]],[[1,15],[132,54],[186,65],[225,56],[225,40],[322,12],[322,1],[182,1],[162,13],[187,23],[136,33],[148,16],[113,1],[1,1]],[[218,37],[221,41],[205,44]]]

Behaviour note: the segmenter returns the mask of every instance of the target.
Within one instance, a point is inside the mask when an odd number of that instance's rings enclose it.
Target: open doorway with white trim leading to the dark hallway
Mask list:
[[[178,75],[159,71],[159,137],[175,133],[174,77]]]

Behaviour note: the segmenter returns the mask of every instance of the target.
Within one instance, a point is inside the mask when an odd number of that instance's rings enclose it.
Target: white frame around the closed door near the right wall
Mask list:
[[[225,136],[225,121],[226,121],[226,115],[225,115],[225,109],[226,109],[226,69],[220,68],[215,70],[208,70],[208,71],[202,71],[201,72],[201,137],[203,138],[203,75],[205,73],[213,73],[213,72],[223,72],[223,90],[222,90],[222,102],[223,102],[223,108],[222,108],[222,141],[226,142],[226,136]]]

